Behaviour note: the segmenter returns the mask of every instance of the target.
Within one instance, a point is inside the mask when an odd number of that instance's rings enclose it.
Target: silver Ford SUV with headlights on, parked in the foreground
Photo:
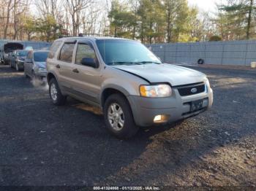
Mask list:
[[[106,37],[57,39],[47,60],[49,94],[102,108],[108,130],[128,139],[139,126],[175,122],[209,109],[205,74],[162,63],[140,42]]]

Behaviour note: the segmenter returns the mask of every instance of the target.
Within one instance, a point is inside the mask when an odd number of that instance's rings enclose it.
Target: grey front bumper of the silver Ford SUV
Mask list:
[[[143,98],[140,96],[128,96],[136,125],[146,127],[156,124],[154,117],[157,115],[167,116],[167,122],[176,122],[205,112],[213,104],[213,90],[207,87],[203,93],[181,96],[178,89],[173,89],[173,94],[168,98]],[[203,100],[203,109],[190,112],[192,101]]]

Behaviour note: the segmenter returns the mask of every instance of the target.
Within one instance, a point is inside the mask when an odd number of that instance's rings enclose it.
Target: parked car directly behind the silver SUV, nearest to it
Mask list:
[[[46,59],[49,51],[34,50],[29,51],[25,63],[24,74],[31,79],[44,79],[46,77]]]

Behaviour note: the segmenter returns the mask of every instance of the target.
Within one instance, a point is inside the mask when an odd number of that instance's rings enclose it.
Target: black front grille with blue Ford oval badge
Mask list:
[[[178,87],[178,93],[181,96],[195,95],[197,93],[203,93],[206,90],[206,85],[200,83],[199,85],[186,85]]]

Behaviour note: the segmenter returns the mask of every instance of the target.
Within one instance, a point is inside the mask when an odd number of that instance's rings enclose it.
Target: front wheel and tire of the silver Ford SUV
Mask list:
[[[116,106],[116,113],[113,111],[113,107]],[[121,108],[121,110],[119,110]],[[123,114],[116,116],[117,113],[123,112]],[[132,109],[129,106],[127,98],[121,94],[110,95],[105,101],[103,107],[105,125],[113,136],[118,139],[129,139],[138,132],[139,128],[135,125],[135,121],[132,115]],[[117,114],[118,115],[118,114]],[[116,124],[116,128],[114,128]],[[120,125],[122,124],[122,125]]]

